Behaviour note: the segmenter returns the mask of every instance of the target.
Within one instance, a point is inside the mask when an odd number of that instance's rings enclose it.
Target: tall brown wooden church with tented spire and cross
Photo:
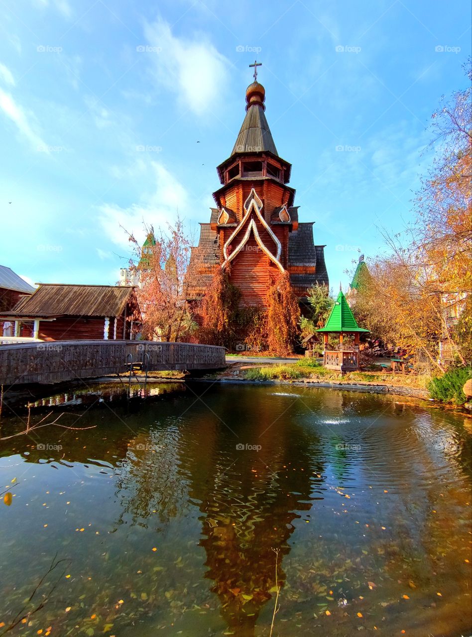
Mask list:
[[[210,223],[201,225],[192,248],[191,297],[202,297],[216,267],[241,291],[242,306],[263,306],[271,273],[289,272],[301,303],[315,283],[328,286],[324,245],[313,241],[313,222],[299,222],[290,187],[291,164],[277,152],[266,120],[262,84],[246,90],[246,117],[228,159],[218,167],[221,187],[213,192]]]

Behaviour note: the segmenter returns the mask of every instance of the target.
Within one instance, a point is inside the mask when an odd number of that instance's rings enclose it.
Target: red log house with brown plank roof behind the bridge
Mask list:
[[[60,283],[40,283],[34,294],[0,316],[15,322],[15,336],[42,341],[132,340],[140,318],[132,286]]]

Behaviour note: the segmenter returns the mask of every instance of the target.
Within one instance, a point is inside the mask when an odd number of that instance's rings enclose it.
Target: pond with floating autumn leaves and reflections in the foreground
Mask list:
[[[43,399],[29,426],[62,427],[0,443],[0,634],[470,634],[466,416],[302,387],[120,391]],[[1,436],[26,419],[4,413]]]

